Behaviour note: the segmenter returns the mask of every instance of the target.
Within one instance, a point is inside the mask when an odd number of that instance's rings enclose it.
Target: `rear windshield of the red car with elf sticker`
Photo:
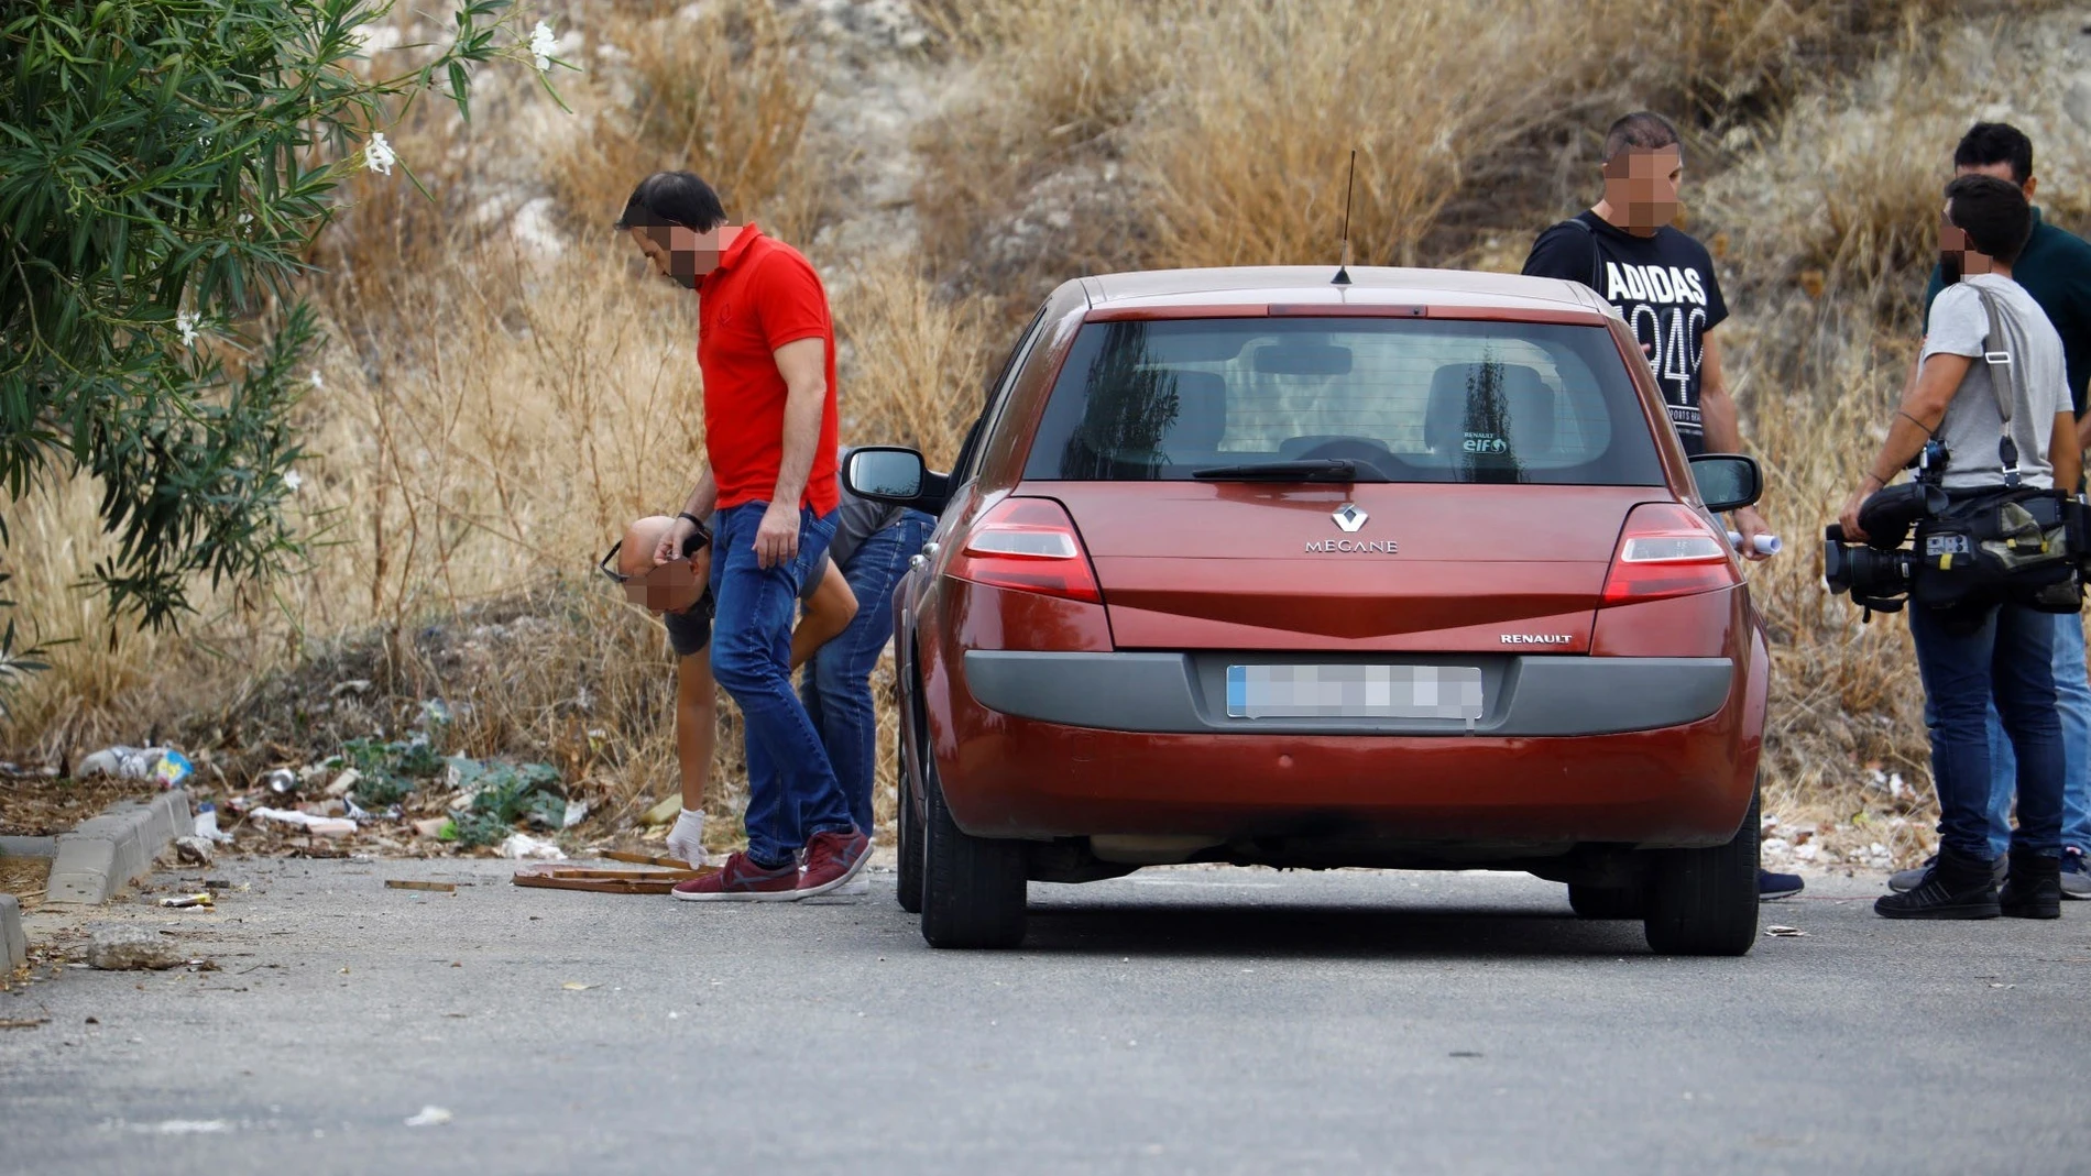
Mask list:
[[[1361,317],[1092,322],[1025,476],[1190,480],[1317,457],[1395,483],[1662,485],[1604,328]]]

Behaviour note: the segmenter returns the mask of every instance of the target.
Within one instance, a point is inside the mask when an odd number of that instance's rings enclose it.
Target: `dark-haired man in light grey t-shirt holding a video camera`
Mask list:
[[[2016,184],[1961,175],[1947,186],[1938,228],[1947,286],[1932,303],[1920,368],[1903,393],[1888,439],[1846,499],[1844,535],[1865,539],[1859,510],[1934,437],[1947,447],[1949,497],[1997,491],[2016,468],[2020,485],[2076,487],[2083,453],[2064,382],[2062,338],[2012,280],[2032,230]],[[1995,305],[2001,334],[1991,338]],[[1989,353],[2007,353],[2009,424],[1997,403]],[[1930,702],[1932,779],[1938,787],[1938,859],[1907,894],[1874,904],[1888,919],[2062,917],[2062,723],[2055,696],[2058,625],[2074,616],[2022,604],[1911,602],[1909,633]],[[1999,894],[1991,873],[1989,712],[1995,704],[2018,758],[2018,831]]]

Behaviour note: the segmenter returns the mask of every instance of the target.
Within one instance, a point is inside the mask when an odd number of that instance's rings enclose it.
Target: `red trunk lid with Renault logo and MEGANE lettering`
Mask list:
[[[1581,654],[1658,487],[1025,483],[1058,499],[1121,650]],[[1338,522],[1336,512],[1351,505]]]

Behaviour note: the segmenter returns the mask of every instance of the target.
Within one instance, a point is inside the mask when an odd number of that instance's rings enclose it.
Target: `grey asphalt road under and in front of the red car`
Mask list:
[[[1146,871],[1033,886],[1025,948],[964,955],[891,873],[826,907],[211,875],[253,888],[105,917],[220,971],[0,994],[50,1017],[0,1030],[0,1172],[2091,1166],[2087,907],[1886,923],[1817,879],[1765,909],[1805,938],[1677,961],[1522,875]]]

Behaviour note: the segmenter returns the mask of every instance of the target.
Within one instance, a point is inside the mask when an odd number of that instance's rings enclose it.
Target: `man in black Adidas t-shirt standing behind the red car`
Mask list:
[[[1604,134],[1604,198],[1539,234],[1524,274],[1583,282],[1618,307],[1654,368],[1685,453],[1740,453],[1736,401],[1713,338],[1727,317],[1721,282],[1706,246],[1671,226],[1683,167],[1677,127],[1662,115],[1639,111],[1612,123]],[[1742,554],[1765,560],[1756,549],[1756,537],[1771,535],[1763,516],[1738,510],[1733,526]],[[1800,888],[1800,875],[1759,875],[1763,898],[1788,898]]]

